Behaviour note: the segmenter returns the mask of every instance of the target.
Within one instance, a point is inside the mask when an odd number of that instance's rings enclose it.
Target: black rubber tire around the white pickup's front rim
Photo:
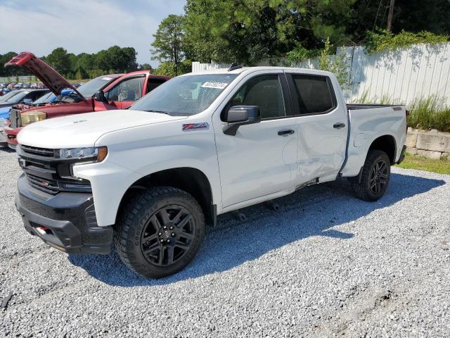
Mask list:
[[[169,206],[181,206],[191,214],[188,226],[193,227],[193,236],[189,240],[191,243],[189,249],[178,261],[172,264],[168,263],[169,265],[158,266],[151,263],[148,256],[144,255],[143,245],[145,244],[143,244],[142,236],[145,235],[143,232],[146,232],[151,219],[161,209],[165,210],[166,206],[168,208]],[[192,261],[198,249],[200,249],[204,233],[205,216],[198,202],[190,194],[173,187],[153,187],[134,196],[122,208],[115,226],[114,242],[120,258],[128,268],[144,277],[160,278],[179,272]],[[171,238],[166,239],[170,240]],[[166,239],[161,239],[161,241]],[[159,252],[162,255],[162,251]],[[173,255],[172,251],[172,258]]]

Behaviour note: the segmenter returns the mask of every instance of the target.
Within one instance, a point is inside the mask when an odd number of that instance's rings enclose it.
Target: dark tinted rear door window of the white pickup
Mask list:
[[[300,114],[328,113],[335,108],[335,94],[328,77],[297,74],[292,77]]]

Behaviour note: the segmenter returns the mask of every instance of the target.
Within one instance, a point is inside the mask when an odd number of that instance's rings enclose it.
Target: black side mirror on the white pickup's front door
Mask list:
[[[224,113],[224,134],[235,136],[238,127],[251,125],[261,121],[261,113],[258,106],[233,106]]]

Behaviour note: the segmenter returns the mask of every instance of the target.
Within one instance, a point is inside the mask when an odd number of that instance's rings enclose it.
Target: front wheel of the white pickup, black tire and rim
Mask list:
[[[122,261],[144,277],[177,273],[202,244],[205,217],[193,197],[172,187],[153,187],[123,209],[115,228]]]

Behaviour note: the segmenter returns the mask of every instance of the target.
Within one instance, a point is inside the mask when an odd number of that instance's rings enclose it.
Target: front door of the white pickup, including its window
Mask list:
[[[262,121],[223,132],[223,113],[231,106],[259,106]],[[292,187],[297,158],[297,123],[283,72],[256,73],[229,94],[214,114],[222,204],[229,207]]]

